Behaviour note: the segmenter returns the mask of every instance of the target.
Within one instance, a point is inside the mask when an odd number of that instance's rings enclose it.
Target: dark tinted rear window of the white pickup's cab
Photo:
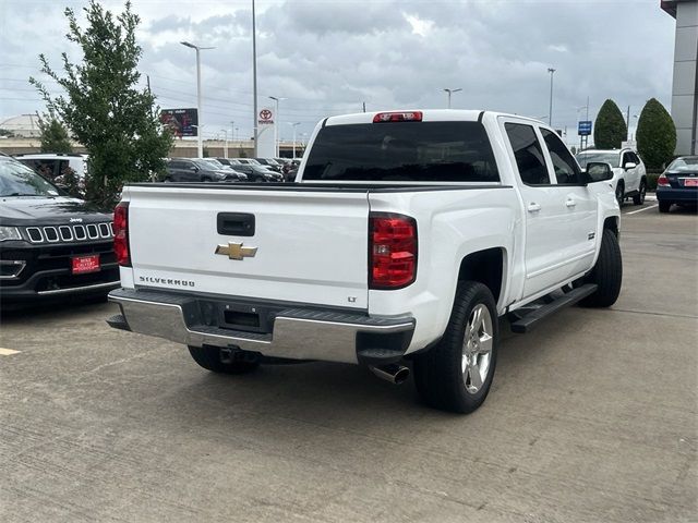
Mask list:
[[[500,173],[479,122],[389,122],[323,127],[303,180],[498,182]]]

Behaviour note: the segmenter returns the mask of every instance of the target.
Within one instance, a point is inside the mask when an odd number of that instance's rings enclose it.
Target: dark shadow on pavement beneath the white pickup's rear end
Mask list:
[[[503,320],[501,329],[505,336],[500,345],[497,367],[507,368],[515,343],[507,341],[510,338],[508,323]],[[182,370],[179,362],[176,366]],[[323,426],[338,423],[357,427],[382,424],[384,419],[395,421],[396,417],[464,419],[478,416],[481,411],[496,409],[500,387],[495,373],[484,405],[464,417],[428,406],[419,397],[413,376],[396,386],[376,378],[368,368],[354,365],[323,362],[262,365],[252,374],[237,376],[207,373],[194,366],[192,373],[180,377],[182,386],[171,389],[173,397],[168,404],[177,405],[180,415],[188,413],[194,416],[190,421],[196,424],[202,422],[201,416],[210,416],[212,419],[221,416],[230,419],[248,416],[292,418]],[[387,417],[386,412],[390,413]]]

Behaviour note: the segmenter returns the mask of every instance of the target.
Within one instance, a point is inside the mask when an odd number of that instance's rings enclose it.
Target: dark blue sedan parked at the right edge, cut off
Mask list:
[[[669,212],[673,204],[698,205],[698,156],[682,156],[670,163],[657,180],[659,211]]]

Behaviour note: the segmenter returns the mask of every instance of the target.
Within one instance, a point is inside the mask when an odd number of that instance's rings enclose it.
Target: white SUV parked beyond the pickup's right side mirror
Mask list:
[[[647,193],[647,171],[641,158],[633,149],[593,149],[577,155],[577,161],[582,169],[587,163],[600,161],[610,163],[613,168],[613,190],[618,205],[626,198],[633,197],[635,205],[645,203]]]

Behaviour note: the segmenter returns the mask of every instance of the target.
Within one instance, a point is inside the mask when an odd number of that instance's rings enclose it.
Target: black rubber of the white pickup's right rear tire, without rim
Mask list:
[[[489,368],[482,385],[476,392],[468,390],[461,364],[466,326],[478,305],[484,305],[490,313],[492,346]],[[414,384],[423,400],[435,409],[469,413],[485,400],[497,361],[500,340],[496,303],[492,292],[477,281],[458,283],[454,308],[442,340],[429,351],[414,358]]]

